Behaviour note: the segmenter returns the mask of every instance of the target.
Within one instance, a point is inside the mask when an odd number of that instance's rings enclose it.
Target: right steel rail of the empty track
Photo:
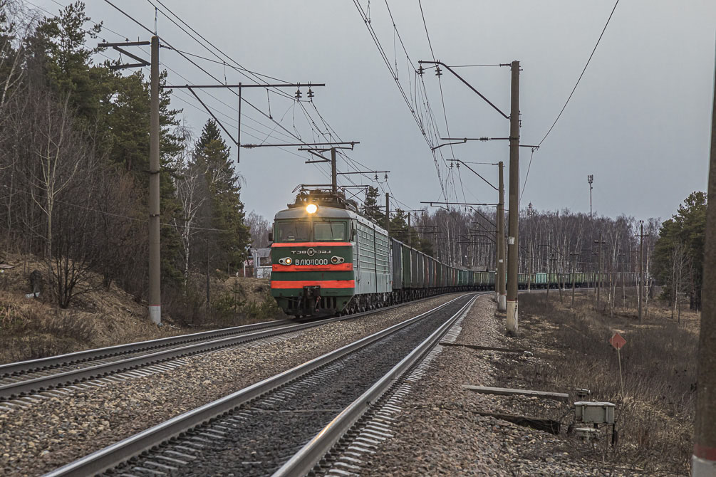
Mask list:
[[[321,461],[321,458],[331,450],[334,444],[352,428],[354,423],[356,423],[367,410],[372,408],[373,403],[376,403],[387,390],[395,385],[397,380],[400,380],[416,363],[419,363],[420,360],[425,358],[425,355],[432,350],[437,343],[440,343],[442,337],[445,333],[448,333],[448,330],[452,328],[455,322],[464,316],[465,313],[468,313],[477,297],[478,295],[475,295],[468,303],[465,303],[463,308],[458,310],[458,313],[455,313],[449,320],[440,325],[440,328],[437,328],[437,330],[420,343],[420,345],[417,345],[417,348],[412,350],[400,363],[397,363],[395,367],[388,371],[388,373],[357,398],[357,400],[354,400],[351,405],[337,415],[328,426],[316,434],[311,441],[306,443],[300,451],[289,459],[284,466],[281,466],[278,471],[274,472],[271,477],[297,477],[305,476],[309,473],[316,464]]]

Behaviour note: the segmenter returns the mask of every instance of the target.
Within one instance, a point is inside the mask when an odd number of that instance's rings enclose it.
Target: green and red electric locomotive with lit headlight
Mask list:
[[[310,191],[288,207],[274,217],[269,237],[274,242],[271,295],[286,314],[335,315],[354,295],[390,292],[387,232],[359,215],[352,202]],[[353,244],[368,235],[377,247],[370,257]],[[349,307],[351,312],[359,309]]]

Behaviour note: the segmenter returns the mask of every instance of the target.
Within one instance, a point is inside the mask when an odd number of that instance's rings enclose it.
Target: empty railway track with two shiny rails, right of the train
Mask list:
[[[457,297],[46,475],[110,468],[125,476],[211,475],[229,468],[242,476],[304,473],[439,343],[475,297]]]

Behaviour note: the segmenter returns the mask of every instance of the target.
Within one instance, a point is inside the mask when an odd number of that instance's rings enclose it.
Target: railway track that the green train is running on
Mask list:
[[[290,336],[306,328],[351,320],[422,300],[427,298],[307,323],[270,321],[0,365],[0,408],[30,405],[38,398],[62,395],[73,386],[102,385],[112,380],[168,370],[183,364],[181,358],[189,355]],[[145,368],[146,371],[142,371]],[[90,380],[93,381],[87,383]]]

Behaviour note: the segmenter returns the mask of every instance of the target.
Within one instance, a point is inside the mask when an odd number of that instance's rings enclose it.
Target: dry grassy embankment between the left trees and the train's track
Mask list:
[[[0,363],[285,318],[268,280],[236,277],[211,280],[209,309],[205,292],[165,293],[161,328],[148,322],[146,303],[115,285],[79,295],[62,309],[47,286],[38,299],[25,297],[29,273],[44,270],[42,262],[5,260],[16,266],[0,273]]]

